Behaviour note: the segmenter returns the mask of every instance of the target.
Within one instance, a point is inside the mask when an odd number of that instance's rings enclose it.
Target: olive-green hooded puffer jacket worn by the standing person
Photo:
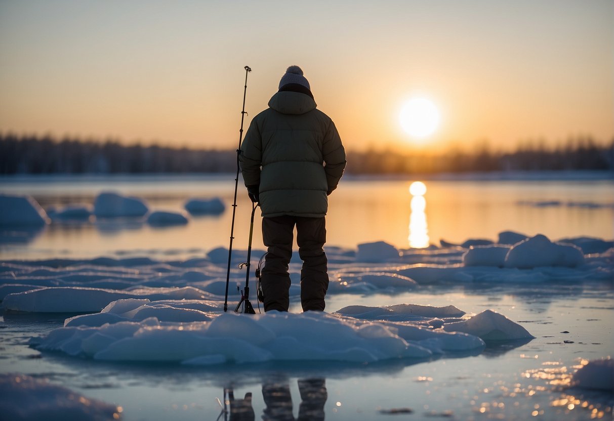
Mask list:
[[[239,161],[246,186],[259,186],[263,217],[324,217],[346,155],[335,123],[304,93],[282,91],[247,129]]]

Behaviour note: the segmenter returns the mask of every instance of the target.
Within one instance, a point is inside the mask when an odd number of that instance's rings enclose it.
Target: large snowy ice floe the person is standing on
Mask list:
[[[335,314],[246,315],[221,313],[216,304],[119,299],[99,313],[66,319],[63,328],[31,344],[98,360],[211,365],[278,360],[370,363],[479,353],[485,340],[532,338],[491,311],[459,324],[465,312],[454,306],[349,306]]]

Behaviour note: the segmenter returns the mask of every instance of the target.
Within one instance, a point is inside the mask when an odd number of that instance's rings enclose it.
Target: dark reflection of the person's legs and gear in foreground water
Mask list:
[[[328,398],[325,379],[298,380],[298,391],[301,395],[301,404],[298,407],[298,418],[295,419],[292,414],[290,385],[287,382],[263,384],[262,397],[266,407],[262,419],[265,421],[324,421],[324,405]],[[235,399],[232,389],[226,389],[225,392],[228,392],[230,421],[255,420],[252,393],[246,393],[243,399]]]

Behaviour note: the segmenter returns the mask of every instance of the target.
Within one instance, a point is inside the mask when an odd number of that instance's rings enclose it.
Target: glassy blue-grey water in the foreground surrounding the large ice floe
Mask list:
[[[556,290],[556,293],[553,292]],[[612,354],[611,285],[543,287],[428,287],[400,295],[336,295],[328,306],[462,303],[468,314],[494,309],[517,320],[530,342],[489,344],[481,353],[428,359],[351,363],[252,363],[246,366],[118,364],[40,353],[31,336],[63,325],[65,315],[4,315],[2,371],[47,378],[77,393],[123,407],[123,419],[215,419],[223,388],[235,400],[252,393],[257,419],[263,390],[289,390],[293,414],[301,403],[298,380],[325,379],[326,419],[387,419],[413,411],[452,419],[570,419],[610,416],[612,392],[567,388],[578,366]],[[569,332],[569,333],[564,333]],[[286,389],[287,387],[287,389]],[[266,393],[265,393],[266,394]],[[276,394],[287,398],[286,393]],[[287,403],[287,402],[286,402]],[[235,405],[236,406],[236,405]],[[279,405],[278,405],[279,406]],[[596,411],[594,411],[596,410]]]

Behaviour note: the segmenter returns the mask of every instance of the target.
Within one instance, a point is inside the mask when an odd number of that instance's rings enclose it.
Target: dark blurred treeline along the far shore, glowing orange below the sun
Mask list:
[[[348,152],[353,174],[434,174],[524,170],[614,170],[614,141],[569,139],[554,149],[525,142],[515,152],[496,152],[483,143],[472,152],[441,155],[368,150]],[[123,145],[50,136],[0,134],[0,174],[137,174],[236,171],[235,150],[193,150],[158,145]]]

